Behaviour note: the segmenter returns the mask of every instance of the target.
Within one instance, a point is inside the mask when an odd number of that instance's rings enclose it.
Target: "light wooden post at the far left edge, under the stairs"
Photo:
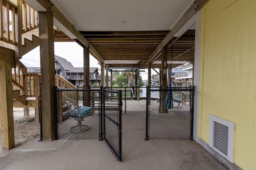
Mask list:
[[[14,147],[14,121],[12,111],[12,63],[0,60],[0,118],[2,149]]]

